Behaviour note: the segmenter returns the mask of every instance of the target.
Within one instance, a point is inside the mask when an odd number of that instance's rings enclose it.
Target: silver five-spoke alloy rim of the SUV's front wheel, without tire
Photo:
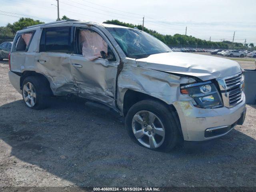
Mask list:
[[[150,111],[139,111],[132,118],[134,136],[147,148],[158,148],[164,142],[164,125],[156,114]]]

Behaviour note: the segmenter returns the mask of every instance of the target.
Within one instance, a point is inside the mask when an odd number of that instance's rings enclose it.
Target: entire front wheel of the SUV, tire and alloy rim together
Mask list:
[[[175,112],[158,100],[142,100],[131,106],[125,127],[134,142],[151,150],[168,152],[182,140]]]

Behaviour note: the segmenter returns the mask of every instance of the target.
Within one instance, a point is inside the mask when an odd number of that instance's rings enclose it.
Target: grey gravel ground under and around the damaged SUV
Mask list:
[[[256,186],[256,105],[244,125],[200,150],[161,153],[133,143],[107,108],[65,98],[27,108],[7,60],[0,88],[0,186]]]

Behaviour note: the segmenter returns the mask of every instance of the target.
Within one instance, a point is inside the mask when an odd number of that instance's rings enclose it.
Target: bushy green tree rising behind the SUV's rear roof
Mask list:
[[[14,22],[13,24],[8,23],[7,27],[9,27],[12,30],[12,33],[15,34],[18,30],[22,30],[24,27],[43,24],[43,23],[44,22],[41,22],[39,20],[34,20],[31,18],[20,18],[17,22]]]

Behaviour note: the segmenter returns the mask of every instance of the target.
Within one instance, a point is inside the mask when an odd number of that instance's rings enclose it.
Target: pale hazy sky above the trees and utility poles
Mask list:
[[[0,26],[23,15],[44,22],[57,17],[57,8],[51,5],[56,0],[0,0],[0,4]],[[162,34],[185,34],[187,26],[188,35],[232,41],[236,31],[235,42],[246,39],[256,45],[254,0],[60,0],[62,15],[81,21],[118,19],[134,24],[141,24],[145,16],[144,25]]]

